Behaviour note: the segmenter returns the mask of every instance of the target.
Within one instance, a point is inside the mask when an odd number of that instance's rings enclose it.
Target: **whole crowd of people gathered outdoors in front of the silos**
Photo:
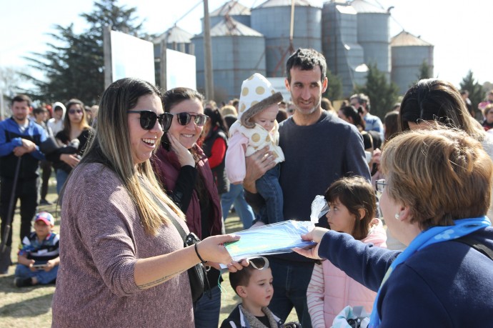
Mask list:
[[[365,94],[339,109],[322,97],[318,51],[294,51],[286,76],[291,101],[258,73],[224,106],[134,78],[97,106],[70,99],[30,117],[31,99],[12,99],[0,122],[1,239],[11,247],[21,199],[14,284],[56,282],[53,327],[490,321],[493,96],[479,122],[452,84],[424,79],[382,121]],[[50,204],[52,168],[59,234],[51,214],[36,214]],[[300,236],[314,247],[241,262],[226,251],[239,239],[225,233],[231,210],[244,229],[310,221],[317,195],[327,212]],[[201,264],[193,299],[188,270]],[[226,271],[241,303],[219,322]],[[354,317],[359,306],[367,318]],[[298,322],[286,323],[293,309]]]

